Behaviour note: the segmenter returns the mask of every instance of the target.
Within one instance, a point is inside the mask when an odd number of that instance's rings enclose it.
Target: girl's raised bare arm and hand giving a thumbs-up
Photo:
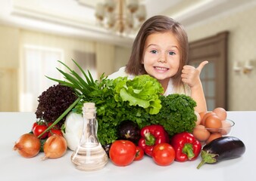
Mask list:
[[[183,67],[181,75],[182,81],[191,88],[191,97],[197,104],[195,107],[196,112],[207,112],[204,90],[200,80],[201,69],[203,69],[207,63],[208,61],[201,62],[197,68],[186,65]]]

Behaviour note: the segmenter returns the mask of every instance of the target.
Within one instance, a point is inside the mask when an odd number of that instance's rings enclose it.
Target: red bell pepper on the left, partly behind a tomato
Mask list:
[[[138,146],[150,157],[152,156],[155,145],[170,142],[168,133],[164,130],[163,126],[158,124],[142,127],[140,136]]]

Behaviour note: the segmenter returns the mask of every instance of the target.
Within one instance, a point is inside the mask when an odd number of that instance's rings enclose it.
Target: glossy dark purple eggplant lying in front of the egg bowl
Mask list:
[[[201,150],[202,161],[198,169],[205,163],[214,164],[218,161],[238,158],[245,153],[245,144],[237,137],[220,137],[212,140]]]

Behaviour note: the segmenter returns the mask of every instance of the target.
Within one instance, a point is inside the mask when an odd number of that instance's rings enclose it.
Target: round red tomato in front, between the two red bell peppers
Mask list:
[[[175,151],[173,146],[170,146],[169,143],[159,143],[158,145],[154,146],[152,158],[156,164],[161,166],[167,166],[173,163],[175,159]]]

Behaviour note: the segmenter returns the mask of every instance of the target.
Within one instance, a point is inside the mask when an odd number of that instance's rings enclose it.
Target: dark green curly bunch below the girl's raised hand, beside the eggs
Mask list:
[[[195,100],[184,94],[170,94],[159,97],[162,108],[157,115],[151,115],[151,124],[161,124],[170,136],[195,127]]]

